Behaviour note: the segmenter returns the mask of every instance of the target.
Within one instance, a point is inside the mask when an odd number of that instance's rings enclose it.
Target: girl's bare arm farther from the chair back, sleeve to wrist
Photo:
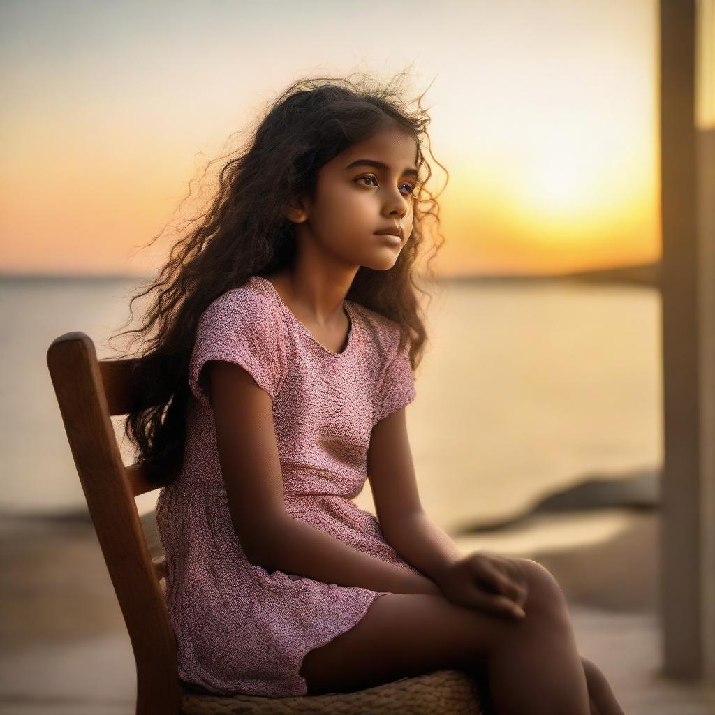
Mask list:
[[[373,428],[368,450],[368,477],[380,528],[390,546],[437,583],[463,554],[425,513],[415,479],[405,408]]]

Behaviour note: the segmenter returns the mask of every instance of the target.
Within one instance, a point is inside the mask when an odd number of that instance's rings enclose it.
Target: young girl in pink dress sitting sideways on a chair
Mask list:
[[[500,715],[621,714],[551,573],[463,555],[420,504],[413,272],[438,211],[429,119],[390,87],[292,85],[153,286],[127,434],[163,479],[179,677],[277,697],[453,667]]]

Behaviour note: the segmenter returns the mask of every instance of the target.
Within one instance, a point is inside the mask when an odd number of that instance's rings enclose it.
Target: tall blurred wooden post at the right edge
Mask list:
[[[696,0],[661,0],[660,611],[664,674],[713,682],[715,154],[696,126],[696,21]]]

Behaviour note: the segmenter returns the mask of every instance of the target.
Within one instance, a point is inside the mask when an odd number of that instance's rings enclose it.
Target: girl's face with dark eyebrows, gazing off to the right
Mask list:
[[[315,200],[305,198],[302,210],[288,215],[298,239],[346,267],[393,267],[412,233],[416,159],[415,140],[399,129],[385,129],[338,154],[318,172]],[[399,241],[376,234],[400,229]]]

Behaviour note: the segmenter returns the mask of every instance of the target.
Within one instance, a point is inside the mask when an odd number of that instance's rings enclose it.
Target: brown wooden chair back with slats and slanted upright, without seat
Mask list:
[[[97,360],[84,332],[51,342],[47,366],[89,514],[117,593],[137,664],[137,715],[179,712],[176,639],[134,498],[156,489],[141,465],[124,466],[112,415],[133,403],[132,366],[144,358]]]

